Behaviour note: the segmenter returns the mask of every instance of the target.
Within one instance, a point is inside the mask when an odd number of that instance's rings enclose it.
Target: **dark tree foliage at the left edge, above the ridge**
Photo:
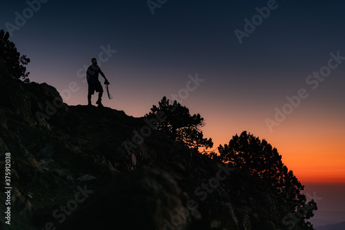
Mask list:
[[[9,75],[14,79],[23,79],[23,82],[30,82],[26,73],[26,65],[30,59],[26,55],[20,55],[14,43],[8,38],[10,34],[0,30],[0,61],[6,66]]]

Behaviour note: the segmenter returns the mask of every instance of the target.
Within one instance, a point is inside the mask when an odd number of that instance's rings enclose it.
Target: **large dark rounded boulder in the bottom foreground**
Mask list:
[[[166,173],[141,168],[92,195],[61,229],[185,229],[181,190]],[[95,221],[97,220],[97,221]]]

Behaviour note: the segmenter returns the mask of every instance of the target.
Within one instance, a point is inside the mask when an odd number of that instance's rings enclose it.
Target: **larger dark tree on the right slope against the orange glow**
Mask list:
[[[288,171],[282,163],[282,156],[266,140],[259,140],[244,131],[239,136],[233,136],[229,144],[219,145],[218,151],[220,160],[238,169],[247,169],[252,175],[259,175],[266,180],[292,209],[310,207],[304,219],[313,216],[313,211],[317,209],[316,203],[312,200],[312,203],[306,204],[306,196],[301,193],[304,186],[293,175],[293,171]],[[311,207],[312,204],[315,205]]]

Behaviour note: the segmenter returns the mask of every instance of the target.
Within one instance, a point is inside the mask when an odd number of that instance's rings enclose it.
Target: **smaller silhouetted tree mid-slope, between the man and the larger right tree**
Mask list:
[[[166,135],[176,142],[184,143],[192,148],[212,148],[212,139],[204,138],[201,127],[205,126],[201,115],[190,115],[186,106],[181,106],[176,100],[170,104],[170,100],[163,97],[159,106],[153,105],[148,118],[156,118],[157,130],[164,131]]]

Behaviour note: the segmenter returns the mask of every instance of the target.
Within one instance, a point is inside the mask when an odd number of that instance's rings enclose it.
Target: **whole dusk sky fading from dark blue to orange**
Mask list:
[[[345,57],[345,2],[277,0],[240,44],[234,31],[268,2],[169,0],[152,15],[146,0],[50,0],[30,15],[26,1],[5,0],[0,24],[8,30],[26,14],[10,39],[31,59],[31,81],[65,93],[77,83],[63,95],[67,104],[87,104],[83,66],[109,46],[117,52],[101,69],[114,99],[103,97],[105,106],[141,117],[197,74],[204,82],[178,101],[206,119],[204,135],[215,147],[246,130],[275,146],[303,184],[345,183],[345,60],[317,88],[306,83],[331,52]],[[265,120],[301,88],[308,97],[270,130]],[[333,211],[345,211],[342,204]]]

